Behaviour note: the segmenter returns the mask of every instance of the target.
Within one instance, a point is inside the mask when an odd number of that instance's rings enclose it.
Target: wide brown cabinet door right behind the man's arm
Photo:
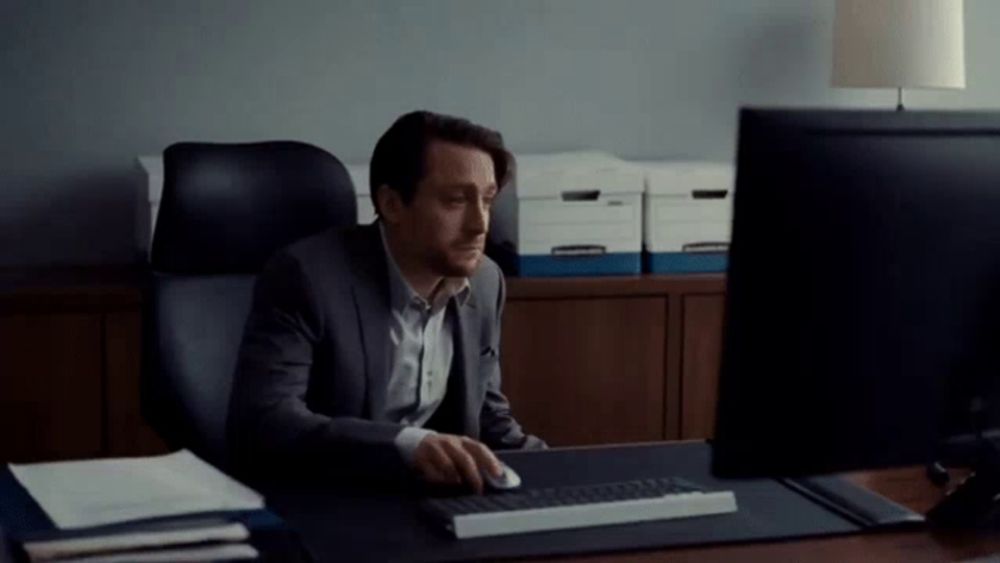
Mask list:
[[[508,302],[514,416],[553,446],[662,440],[666,308],[657,297]]]

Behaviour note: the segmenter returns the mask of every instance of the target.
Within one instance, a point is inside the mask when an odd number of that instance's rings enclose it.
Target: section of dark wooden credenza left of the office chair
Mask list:
[[[0,273],[0,462],[165,451],[139,411],[128,268]]]

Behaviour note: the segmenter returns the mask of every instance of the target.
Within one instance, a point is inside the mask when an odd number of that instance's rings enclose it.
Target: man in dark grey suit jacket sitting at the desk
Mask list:
[[[503,276],[483,255],[513,158],[500,135],[413,112],[379,139],[379,220],[279,252],[260,275],[233,384],[244,469],[483,488],[492,449],[541,448],[500,392]]]

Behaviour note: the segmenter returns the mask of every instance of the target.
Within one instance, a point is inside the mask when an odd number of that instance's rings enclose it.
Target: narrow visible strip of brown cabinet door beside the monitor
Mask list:
[[[711,438],[722,356],[725,296],[685,295],[681,360],[681,438]]]

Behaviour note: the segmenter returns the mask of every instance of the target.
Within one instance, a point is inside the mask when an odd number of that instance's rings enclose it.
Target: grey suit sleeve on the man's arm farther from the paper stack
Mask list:
[[[526,434],[514,420],[510,402],[500,391],[500,331],[506,286],[503,274],[497,268],[496,317],[484,342],[486,354],[480,357],[480,373],[486,377],[486,400],[479,417],[480,437],[492,449],[544,449],[546,444],[537,436]]]

